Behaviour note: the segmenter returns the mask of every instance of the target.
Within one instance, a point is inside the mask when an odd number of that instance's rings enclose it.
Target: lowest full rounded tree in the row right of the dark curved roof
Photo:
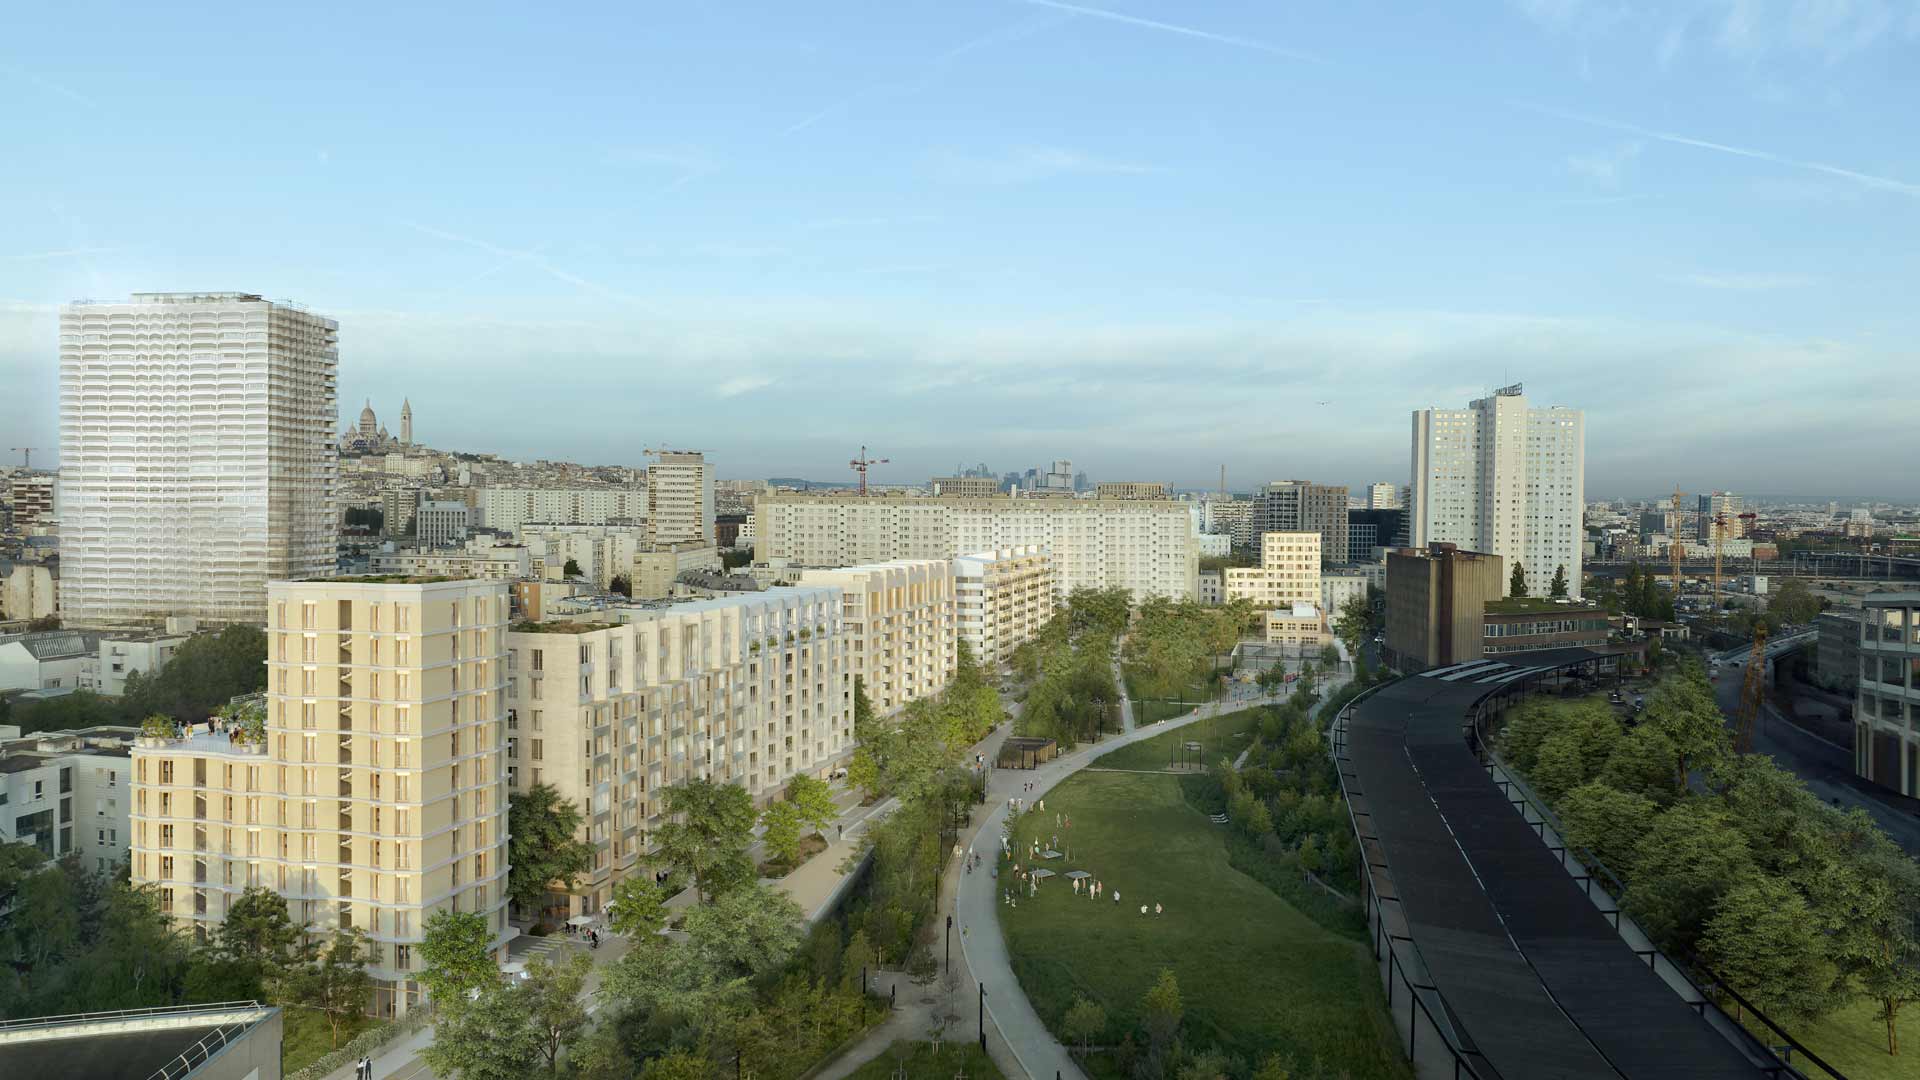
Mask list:
[[[1780,878],[1751,874],[1726,890],[1699,936],[1699,953],[1774,1019],[1811,1020],[1837,1003],[1828,992],[1834,963],[1820,926],[1807,899]]]

